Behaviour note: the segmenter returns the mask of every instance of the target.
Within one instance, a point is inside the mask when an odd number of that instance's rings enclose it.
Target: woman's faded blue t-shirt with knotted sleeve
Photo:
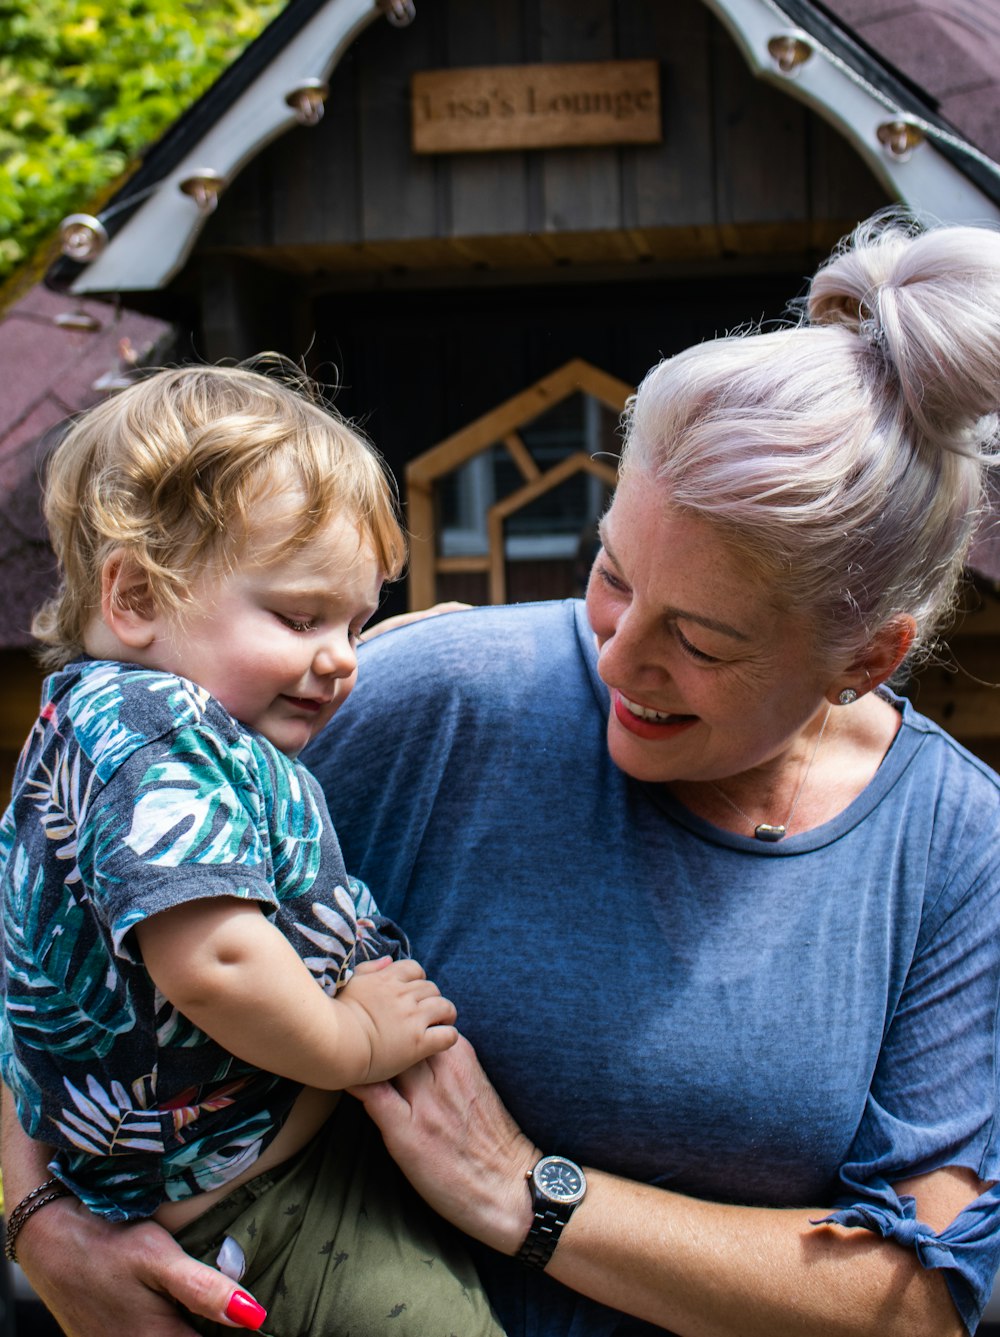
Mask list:
[[[945,1269],[972,1328],[996,1197],[934,1237],[889,1185],[1000,1178],[1000,781],[897,706],[865,792],[765,845],[612,763],[583,606],[525,604],[374,639],[306,759],[349,866],[543,1151],[714,1201],[841,1207]],[[659,1332],[480,1261],[512,1334]]]

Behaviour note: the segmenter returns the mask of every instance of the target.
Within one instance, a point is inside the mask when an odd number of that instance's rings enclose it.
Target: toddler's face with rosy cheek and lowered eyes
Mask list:
[[[302,552],[201,576],[146,662],[207,689],[294,757],[350,694],[381,583],[357,525],[337,516]]]

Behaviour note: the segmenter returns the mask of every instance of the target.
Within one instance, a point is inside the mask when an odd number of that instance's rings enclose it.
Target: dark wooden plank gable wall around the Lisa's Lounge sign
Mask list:
[[[663,142],[420,156],[409,79],[448,66],[655,57]],[[334,286],[358,271],[825,250],[886,202],[825,122],[755,80],[701,0],[420,0],[365,29],[326,115],[265,150],[198,243]]]

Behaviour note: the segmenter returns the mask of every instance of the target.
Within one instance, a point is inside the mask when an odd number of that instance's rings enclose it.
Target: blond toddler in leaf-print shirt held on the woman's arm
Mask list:
[[[496,1337],[336,1094],[456,1040],[295,761],[404,562],[378,457],[302,381],[186,366],[72,427],[45,517],[53,673],[0,828],[0,1070],[43,1189],[155,1218],[277,1337]]]

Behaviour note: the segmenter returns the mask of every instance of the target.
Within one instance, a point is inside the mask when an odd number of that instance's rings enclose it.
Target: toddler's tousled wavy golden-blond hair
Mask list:
[[[261,548],[254,508],[275,491],[295,504],[287,532]],[[251,536],[254,560],[266,564],[306,547],[336,516],[357,524],[385,579],[406,555],[380,456],[273,354],[160,370],[90,409],[52,455],[44,511],[61,582],[32,632],[49,667],[82,652],[116,550],[162,608],[182,608],[193,578],[211,563],[231,566]]]

